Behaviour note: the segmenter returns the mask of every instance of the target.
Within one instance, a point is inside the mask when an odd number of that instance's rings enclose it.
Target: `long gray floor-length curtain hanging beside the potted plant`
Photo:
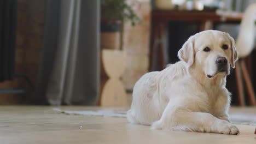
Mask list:
[[[95,105],[100,87],[100,0],[46,3],[38,104]]]

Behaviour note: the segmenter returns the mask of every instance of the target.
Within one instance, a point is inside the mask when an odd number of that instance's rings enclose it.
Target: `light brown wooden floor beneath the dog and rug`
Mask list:
[[[251,125],[237,125],[239,135],[150,130],[145,125],[127,123],[125,118],[56,114],[50,113],[52,108],[0,106],[0,143],[256,143],[255,126]],[[66,106],[60,109],[111,108]]]

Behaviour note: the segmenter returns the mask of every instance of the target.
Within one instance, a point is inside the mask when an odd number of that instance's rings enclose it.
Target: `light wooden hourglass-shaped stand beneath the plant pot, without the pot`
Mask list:
[[[104,72],[109,79],[101,92],[102,106],[125,106],[127,97],[121,75],[124,73],[126,53],[120,50],[102,50]]]

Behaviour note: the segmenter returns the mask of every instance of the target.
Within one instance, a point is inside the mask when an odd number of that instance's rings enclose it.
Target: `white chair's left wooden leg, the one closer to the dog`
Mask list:
[[[236,74],[238,101],[240,106],[245,106],[245,96],[243,94],[243,81],[242,81],[242,74],[241,74],[241,68],[240,68],[240,61],[236,62],[235,66],[236,66],[235,74]]]

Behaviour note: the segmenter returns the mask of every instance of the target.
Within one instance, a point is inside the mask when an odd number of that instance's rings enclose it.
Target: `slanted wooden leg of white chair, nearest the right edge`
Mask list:
[[[245,59],[241,60],[241,69],[242,69],[243,77],[245,78],[246,88],[248,91],[250,103],[255,106],[256,105],[255,93],[253,91],[251,78],[246,68]]]

